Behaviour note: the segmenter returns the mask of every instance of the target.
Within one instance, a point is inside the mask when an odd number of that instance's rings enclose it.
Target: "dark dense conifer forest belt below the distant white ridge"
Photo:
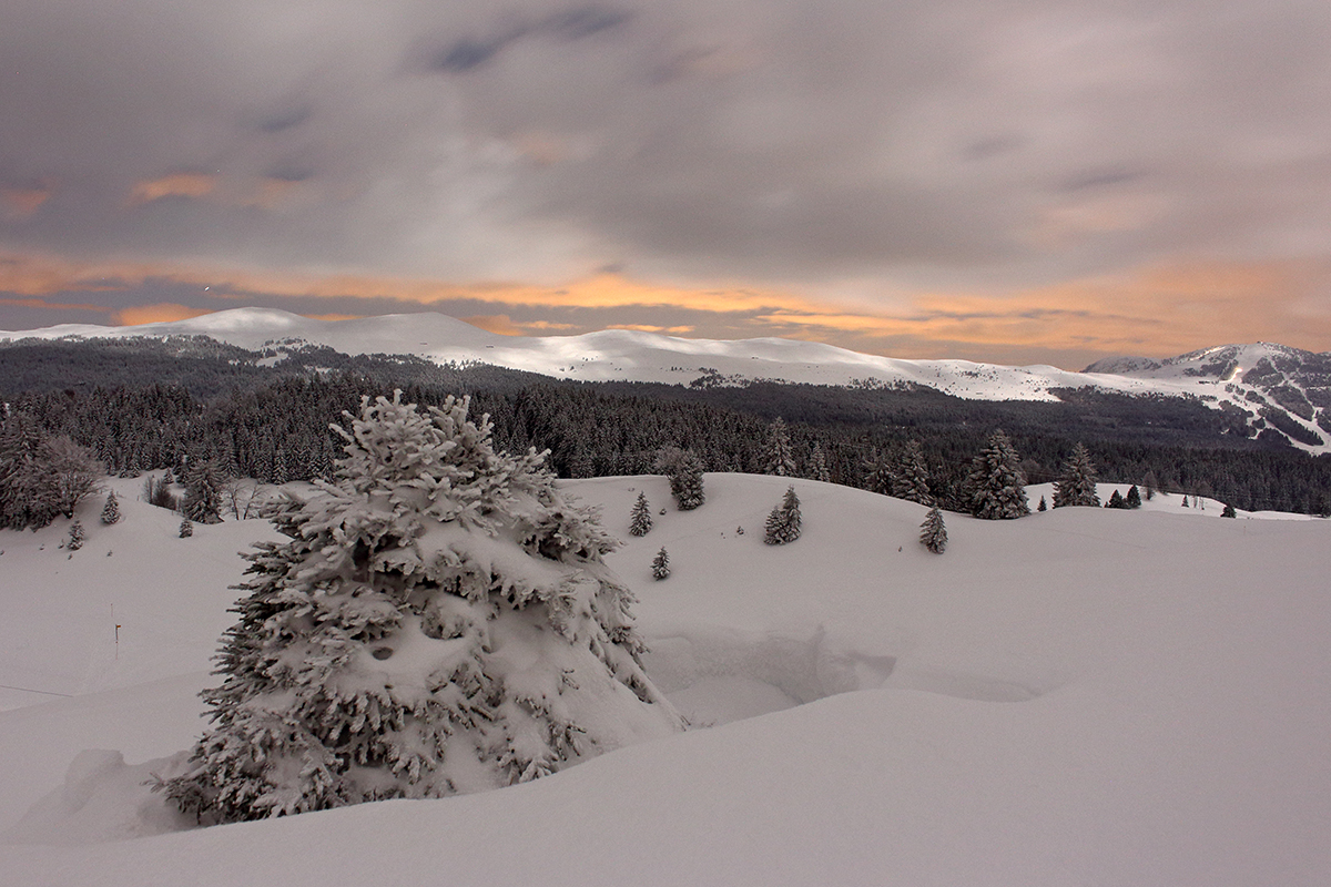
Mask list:
[[[383,370],[383,367],[381,367]],[[9,400],[49,436],[88,447],[120,475],[214,461],[224,473],[270,483],[326,475],[341,442],[330,432],[363,394],[439,404],[471,394],[496,444],[550,449],[566,477],[655,471],[662,447],[707,471],[769,468],[772,424],[784,420],[795,476],[906,495],[964,511],[972,460],[1000,427],[1028,483],[1055,480],[1077,442],[1106,481],[1211,496],[1234,505],[1324,513],[1331,457],[1252,438],[1239,419],[1201,403],[1065,392],[1061,403],[989,403],[921,390],[777,386],[691,390],[543,380],[494,368],[450,371],[449,384],[382,374],[299,374],[210,398],[178,384],[81,386]],[[411,374],[405,374],[410,376]],[[783,444],[784,445],[784,444]]]

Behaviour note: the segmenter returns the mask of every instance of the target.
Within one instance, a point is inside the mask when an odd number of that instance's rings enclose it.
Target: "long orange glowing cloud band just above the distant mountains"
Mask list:
[[[1331,342],[1331,262],[1173,262],[1114,275],[1073,279],[1002,294],[936,291],[884,294],[890,305],[760,290],[656,285],[598,274],[563,286],[447,283],[418,278],[315,275],[166,263],[73,263],[0,257],[0,290],[41,297],[71,290],[129,289],[145,281],[210,285],[210,298],[254,297],[389,299],[447,311],[450,302],[483,302],[492,314],[469,323],[503,335],[584,330],[563,310],[600,310],[600,323],[656,332],[783,335],[832,342],[904,358],[1004,354],[1047,359],[1051,352],[1165,356],[1197,347],[1266,339],[1310,350]],[[514,320],[504,307],[522,307]],[[550,310],[546,318],[536,314]],[[664,323],[615,323],[616,310],[650,309]],[[671,324],[669,311],[684,313]],[[122,311],[144,323],[198,314],[181,306]],[[654,318],[655,319],[655,318]],[[1071,359],[1071,358],[1069,358]],[[1077,358],[1079,359],[1079,356]]]

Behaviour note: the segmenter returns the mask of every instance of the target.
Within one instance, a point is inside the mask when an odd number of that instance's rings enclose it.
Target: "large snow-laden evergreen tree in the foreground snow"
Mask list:
[[[618,543],[467,408],[363,399],[333,481],[276,507],[213,725],[160,783],[201,822],[498,787],[681,729]]]

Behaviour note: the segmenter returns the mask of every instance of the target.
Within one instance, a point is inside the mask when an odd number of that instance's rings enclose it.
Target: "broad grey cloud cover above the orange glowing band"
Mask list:
[[[1331,230],[1322,0],[11,0],[0,56],[55,188],[7,249],[1001,285]]]

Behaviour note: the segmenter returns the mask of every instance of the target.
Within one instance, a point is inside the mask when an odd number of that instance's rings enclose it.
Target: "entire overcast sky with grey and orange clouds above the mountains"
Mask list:
[[[0,330],[1331,350],[1326,0],[5,0]]]

